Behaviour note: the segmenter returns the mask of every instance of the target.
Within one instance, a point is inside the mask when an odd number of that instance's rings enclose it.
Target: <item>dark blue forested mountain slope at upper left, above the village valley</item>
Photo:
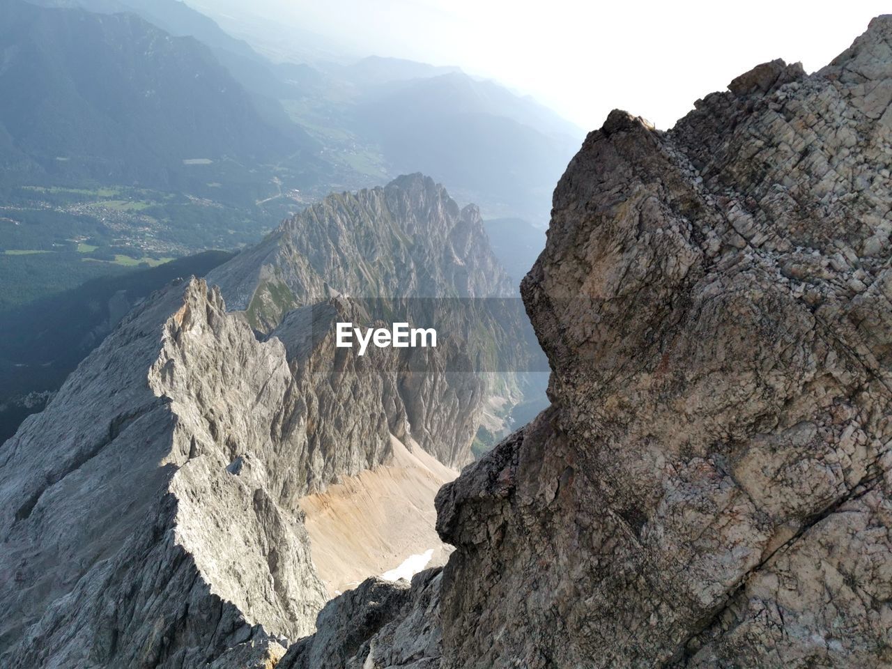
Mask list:
[[[301,148],[207,47],[134,14],[5,0],[0,52],[7,181],[184,187],[208,180],[187,162],[256,164]]]

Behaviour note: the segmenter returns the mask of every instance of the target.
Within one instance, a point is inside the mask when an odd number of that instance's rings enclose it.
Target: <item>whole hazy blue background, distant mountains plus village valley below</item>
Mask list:
[[[0,0],[0,283],[29,287],[0,308],[120,269],[103,263],[252,244],[417,171],[521,221],[491,243],[532,263],[516,244],[582,130],[456,67],[293,42],[337,54],[273,62],[178,0]]]

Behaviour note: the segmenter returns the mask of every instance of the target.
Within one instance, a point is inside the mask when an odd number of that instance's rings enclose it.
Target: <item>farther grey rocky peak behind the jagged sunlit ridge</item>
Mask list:
[[[436,325],[438,348],[392,357],[398,375],[388,383],[405,413],[400,429],[450,467],[469,461],[483,401],[493,392],[491,379],[468,372],[523,371],[533,351],[518,335],[529,326],[479,211],[459,209],[420,174],[330,195],[212,271],[208,282],[268,334],[281,334],[277,326],[289,311],[336,294],[357,301],[367,321]],[[519,399],[516,382],[509,383]]]

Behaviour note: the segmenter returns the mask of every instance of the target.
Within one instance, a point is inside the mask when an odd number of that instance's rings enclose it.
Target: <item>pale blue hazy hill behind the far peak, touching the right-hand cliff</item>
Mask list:
[[[390,83],[357,110],[392,170],[420,169],[496,214],[545,219],[582,131],[532,100],[462,72]]]

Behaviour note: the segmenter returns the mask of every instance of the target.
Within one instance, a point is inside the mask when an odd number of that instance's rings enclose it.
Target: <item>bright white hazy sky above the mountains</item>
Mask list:
[[[205,0],[211,4],[213,0]],[[667,128],[759,62],[813,71],[892,1],[252,0],[360,53],[459,65],[585,129],[616,107]]]

